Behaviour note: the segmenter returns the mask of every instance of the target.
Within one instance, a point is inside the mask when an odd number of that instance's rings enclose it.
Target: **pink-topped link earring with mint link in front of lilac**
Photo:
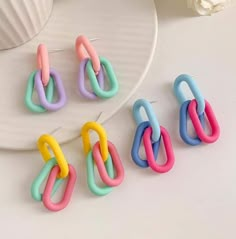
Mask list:
[[[81,95],[90,100],[95,100],[98,97],[107,99],[115,96],[119,90],[119,84],[110,61],[105,57],[99,57],[85,36],[79,36],[76,39],[75,50],[80,61],[78,89]],[[86,74],[93,92],[89,92],[85,88]],[[109,90],[104,89],[105,78],[108,80]]]

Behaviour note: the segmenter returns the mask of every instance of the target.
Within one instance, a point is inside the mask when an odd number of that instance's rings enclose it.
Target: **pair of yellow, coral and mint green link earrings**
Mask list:
[[[94,146],[90,143],[89,130],[95,130],[99,135],[99,141]],[[104,196],[120,185],[124,179],[124,168],[119,154],[115,145],[107,140],[105,129],[97,122],[87,122],[82,127],[81,136],[86,155],[88,187],[94,194]],[[67,162],[58,142],[51,135],[42,135],[39,138],[38,149],[45,165],[32,183],[31,196],[36,201],[42,201],[48,210],[60,211],[71,200],[77,178],[76,170]],[[104,187],[98,186],[95,182],[95,165],[105,184]],[[64,195],[59,202],[54,203],[51,197],[66,179],[68,180]],[[44,181],[46,185],[41,193],[40,188]]]

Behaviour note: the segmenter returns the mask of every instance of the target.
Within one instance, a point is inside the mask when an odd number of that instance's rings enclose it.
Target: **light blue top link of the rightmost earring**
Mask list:
[[[182,74],[179,75],[174,83],[174,93],[176,95],[176,98],[178,99],[179,103],[182,105],[185,101],[187,101],[188,99],[186,99],[186,97],[184,96],[183,92],[181,91],[181,83],[186,82],[187,85],[189,86],[190,90],[192,91],[194,97],[197,100],[197,111],[198,114],[201,115],[204,113],[205,111],[205,99],[201,93],[201,91],[199,90],[197,84],[195,83],[194,79],[186,74]]]

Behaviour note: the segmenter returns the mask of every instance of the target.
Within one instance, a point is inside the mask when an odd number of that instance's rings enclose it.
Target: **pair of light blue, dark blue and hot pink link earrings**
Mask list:
[[[180,86],[185,82],[192,91],[195,99],[187,100],[184,96]],[[202,96],[197,84],[189,75],[180,75],[176,78],[174,83],[174,93],[181,104],[179,133],[182,140],[189,145],[199,145],[201,143],[214,143],[220,136],[220,127],[208,101]],[[145,109],[148,116],[148,121],[144,121],[140,114],[141,108]],[[153,171],[158,173],[168,172],[174,165],[174,153],[172,143],[168,132],[165,128],[159,125],[155,113],[152,109],[151,103],[144,99],[137,100],[133,106],[133,116],[138,125],[131,156],[135,164],[142,168],[150,167]],[[190,117],[196,137],[191,137],[187,129],[188,116]],[[206,133],[206,120],[208,120],[211,132]],[[163,139],[166,162],[163,165],[158,165],[155,161],[158,157],[160,148],[160,141]],[[139,156],[139,149],[143,141],[146,153],[146,159],[143,160]]]

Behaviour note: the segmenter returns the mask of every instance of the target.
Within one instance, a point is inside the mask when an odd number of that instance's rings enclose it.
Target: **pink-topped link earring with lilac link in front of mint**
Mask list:
[[[48,50],[40,44],[37,50],[38,70],[31,73],[28,79],[25,104],[36,113],[57,111],[66,104],[66,94],[60,75],[49,66]],[[36,90],[40,105],[33,102],[33,92]],[[57,90],[57,101],[54,102],[54,91]]]

